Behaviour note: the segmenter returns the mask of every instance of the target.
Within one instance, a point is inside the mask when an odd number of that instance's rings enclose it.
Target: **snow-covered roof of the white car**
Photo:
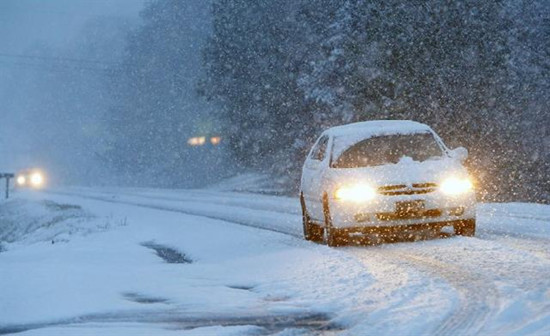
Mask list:
[[[331,127],[324,135],[346,136],[363,135],[365,137],[384,134],[411,134],[432,131],[430,126],[412,120],[371,120]]]

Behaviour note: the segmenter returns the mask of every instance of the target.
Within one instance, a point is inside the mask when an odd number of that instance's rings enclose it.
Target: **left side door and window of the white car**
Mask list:
[[[329,137],[321,136],[311,150],[302,173],[302,192],[309,215],[315,221],[323,220],[322,177],[327,159]]]

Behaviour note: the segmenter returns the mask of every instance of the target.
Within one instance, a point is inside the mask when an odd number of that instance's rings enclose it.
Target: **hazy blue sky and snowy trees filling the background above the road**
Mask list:
[[[153,187],[257,171],[295,194],[322,130],[412,119],[469,149],[481,200],[550,201],[548,1],[1,0],[0,29],[5,169]]]

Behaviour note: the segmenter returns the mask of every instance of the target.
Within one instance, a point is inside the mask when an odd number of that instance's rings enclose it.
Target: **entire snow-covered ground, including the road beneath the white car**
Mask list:
[[[296,199],[65,188],[0,203],[0,334],[550,334],[550,206],[331,249]]]

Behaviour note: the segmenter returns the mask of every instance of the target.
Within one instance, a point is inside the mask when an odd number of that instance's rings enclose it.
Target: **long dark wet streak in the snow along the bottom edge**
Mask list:
[[[265,335],[279,333],[283,330],[299,330],[307,335],[332,334],[344,330],[342,325],[331,322],[330,320],[331,318],[329,315],[322,313],[286,315],[250,314],[247,316],[212,315],[205,317],[204,315],[190,316],[177,311],[140,311],[90,314],[46,323],[0,326],[0,335],[83,323],[125,322],[161,324],[162,326],[159,326],[159,328],[167,328],[168,324],[168,328],[173,330],[191,330],[213,326],[257,326],[261,328],[258,334]]]

